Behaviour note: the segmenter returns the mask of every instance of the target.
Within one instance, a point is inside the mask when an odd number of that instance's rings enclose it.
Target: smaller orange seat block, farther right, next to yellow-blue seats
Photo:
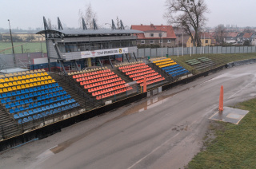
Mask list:
[[[150,85],[157,83],[158,81],[164,81],[165,78],[162,75],[150,68],[142,61],[130,63],[128,65],[118,65],[118,69],[130,77],[133,81],[137,81],[139,85],[142,85],[144,77],[146,76],[146,84]]]

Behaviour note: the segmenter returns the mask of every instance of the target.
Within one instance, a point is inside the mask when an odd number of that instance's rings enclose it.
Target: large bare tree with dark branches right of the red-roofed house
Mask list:
[[[209,12],[204,0],[166,0],[167,12],[164,17],[171,25],[184,29],[192,41],[200,46],[199,37],[202,27],[207,19],[205,14]],[[193,33],[194,31],[194,33]]]

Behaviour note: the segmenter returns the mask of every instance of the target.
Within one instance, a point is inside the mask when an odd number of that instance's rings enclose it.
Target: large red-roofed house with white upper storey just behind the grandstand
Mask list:
[[[172,26],[130,26],[130,29],[141,30],[138,34],[137,45],[159,45],[160,47],[174,47],[176,35]]]

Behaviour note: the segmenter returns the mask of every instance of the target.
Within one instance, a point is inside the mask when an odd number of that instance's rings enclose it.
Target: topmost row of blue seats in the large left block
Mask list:
[[[24,95],[24,94],[30,93],[30,92],[38,92],[38,91],[50,89],[50,88],[58,88],[58,86],[59,86],[58,83],[54,83],[54,84],[49,84],[49,85],[41,85],[41,86],[34,87],[34,88],[26,88],[23,90],[18,90],[16,92],[6,92],[6,93],[0,94],[0,99],[6,98],[6,97],[11,97],[11,96]],[[60,88],[62,88],[62,87],[60,87]]]

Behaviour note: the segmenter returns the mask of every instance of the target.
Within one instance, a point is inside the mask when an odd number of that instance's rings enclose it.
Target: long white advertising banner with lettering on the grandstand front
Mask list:
[[[104,57],[104,56],[123,54],[123,53],[128,53],[128,48],[82,51],[81,58]]]

